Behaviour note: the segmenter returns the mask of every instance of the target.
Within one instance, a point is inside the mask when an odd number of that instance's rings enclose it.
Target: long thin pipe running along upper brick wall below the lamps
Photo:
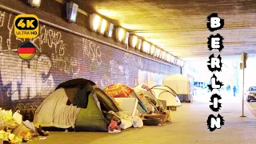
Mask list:
[[[23,13],[23,12],[21,12],[21,11],[14,10],[14,9],[12,9],[12,8],[10,8],[10,7],[3,6],[3,5],[0,5],[0,8],[3,9],[3,10],[10,11],[11,13],[14,13],[14,14],[25,14],[25,13]],[[112,44],[110,44],[110,43],[108,43],[108,42],[104,42],[104,41],[102,41],[102,40],[100,40],[100,39],[98,39],[98,38],[93,38],[93,37],[88,36],[88,35],[86,35],[86,34],[82,34],[82,33],[79,33],[79,32],[77,32],[77,31],[67,29],[66,27],[58,26],[58,25],[56,25],[56,24],[54,24],[54,23],[52,23],[52,22],[47,22],[46,20],[43,20],[43,19],[41,19],[41,18],[39,18],[39,22],[42,22],[42,23],[44,23],[44,24],[46,24],[46,25],[49,25],[49,26],[53,26],[53,27],[57,28],[58,30],[64,30],[64,31],[66,31],[66,32],[68,32],[68,33],[70,33],[70,34],[76,34],[76,35],[78,35],[78,36],[80,36],[80,37],[82,37],[82,38],[87,38],[87,39],[90,39],[90,40],[92,40],[92,41],[94,41],[94,42],[99,42],[99,43],[102,43],[102,44],[104,44],[104,45],[106,45],[106,46],[114,47],[115,49],[122,50],[122,51],[124,51],[124,52],[126,52],[126,53],[134,54],[134,55],[137,55],[137,56],[142,57],[142,58],[149,59],[149,60],[154,61],[154,62],[162,63],[162,64],[167,65],[167,66],[174,66],[173,64],[170,64],[170,63],[167,63],[167,62],[160,62],[160,61],[158,61],[158,60],[155,60],[154,58],[148,58],[148,57],[146,57],[146,56],[144,56],[144,55],[142,55],[142,54],[137,54],[137,53],[135,53],[135,52],[133,52],[133,51],[129,51],[129,50],[126,50],[126,49],[122,49],[122,48],[119,47],[119,46],[115,46],[115,45],[112,45]]]

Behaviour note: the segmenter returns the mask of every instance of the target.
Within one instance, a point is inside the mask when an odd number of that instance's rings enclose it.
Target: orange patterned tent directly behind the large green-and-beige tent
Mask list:
[[[110,95],[113,98],[138,98],[138,111],[140,114],[146,114],[146,106],[142,102],[142,98],[140,98],[137,94],[134,93],[134,90],[129,86],[123,85],[121,83],[116,83],[110,86],[106,86],[103,89],[104,92]]]

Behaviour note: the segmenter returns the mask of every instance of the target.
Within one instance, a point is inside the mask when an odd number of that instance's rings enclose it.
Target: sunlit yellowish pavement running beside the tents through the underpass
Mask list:
[[[225,98],[226,99],[226,98]],[[237,98],[238,99],[238,98]],[[209,114],[217,115],[209,108],[209,103],[182,103],[182,107],[173,112],[173,122],[165,126],[144,126],[130,128],[120,134],[108,133],[64,133],[51,132],[46,140],[34,140],[34,144],[189,144],[189,143],[230,143],[246,144],[256,142],[256,119],[245,105],[246,118],[240,118],[241,102],[232,100],[222,104],[220,114],[226,120],[220,130],[210,132],[206,127]]]

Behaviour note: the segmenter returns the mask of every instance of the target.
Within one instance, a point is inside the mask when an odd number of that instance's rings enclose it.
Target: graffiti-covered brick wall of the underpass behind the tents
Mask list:
[[[30,8],[22,1],[0,0],[0,4],[124,47],[111,38],[90,33],[85,28],[88,21],[82,14],[78,15],[77,23],[67,23],[63,19],[64,7],[58,2],[44,0],[40,9]],[[71,78],[87,78],[104,88],[117,82],[134,86],[138,70],[181,73],[178,66],[154,62],[44,23],[40,23],[37,38],[16,38],[14,17],[15,14],[0,9],[0,106],[34,110],[60,82]],[[37,47],[37,54],[30,62],[22,61],[14,51],[25,41]]]

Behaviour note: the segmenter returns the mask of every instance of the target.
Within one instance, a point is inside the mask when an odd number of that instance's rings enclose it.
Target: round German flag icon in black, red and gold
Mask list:
[[[18,56],[24,60],[34,58],[36,48],[32,42],[22,42],[18,46]]]

